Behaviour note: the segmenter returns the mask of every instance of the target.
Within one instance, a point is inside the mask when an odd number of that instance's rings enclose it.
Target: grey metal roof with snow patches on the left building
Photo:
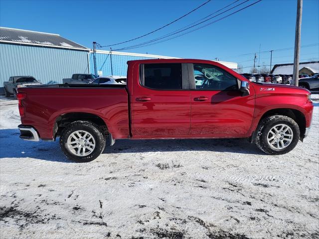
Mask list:
[[[61,37],[58,34],[7,27],[0,27],[0,42],[42,46],[45,45],[48,47],[88,49],[80,44]]]

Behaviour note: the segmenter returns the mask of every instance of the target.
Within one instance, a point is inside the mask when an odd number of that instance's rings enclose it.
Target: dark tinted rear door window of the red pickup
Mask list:
[[[161,90],[182,89],[181,64],[145,64],[143,73],[143,86]]]

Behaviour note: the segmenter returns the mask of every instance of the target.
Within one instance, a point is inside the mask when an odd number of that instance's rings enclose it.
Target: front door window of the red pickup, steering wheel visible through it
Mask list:
[[[197,90],[232,91],[238,89],[237,78],[225,70],[206,64],[193,64]]]

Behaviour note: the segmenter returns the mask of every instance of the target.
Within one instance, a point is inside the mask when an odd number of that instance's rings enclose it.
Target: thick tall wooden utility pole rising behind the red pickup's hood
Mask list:
[[[295,56],[294,56],[294,74],[293,74],[293,82],[294,82],[295,86],[298,86],[298,84],[299,84],[299,53],[300,53],[300,36],[301,36],[302,16],[303,16],[303,0],[297,0]]]

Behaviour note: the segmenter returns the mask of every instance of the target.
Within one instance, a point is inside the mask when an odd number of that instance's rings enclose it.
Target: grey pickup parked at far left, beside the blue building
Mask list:
[[[4,93],[6,97],[13,95],[16,99],[17,89],[20,87],[41,85],[33,76],[11,76],[9,81],[3,82]]]

